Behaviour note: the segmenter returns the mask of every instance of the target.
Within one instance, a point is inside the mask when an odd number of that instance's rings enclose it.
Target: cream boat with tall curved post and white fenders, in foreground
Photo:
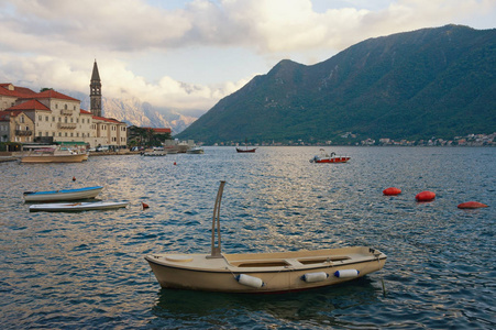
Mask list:
[[[386,263],[384,253],[366,246],[221,253],[219,209],[224,184],[221,182],[213,209],[210,254],[166,253],[145,256],[162,287],[223,293],[294,292],[362,277],[379,271]]]

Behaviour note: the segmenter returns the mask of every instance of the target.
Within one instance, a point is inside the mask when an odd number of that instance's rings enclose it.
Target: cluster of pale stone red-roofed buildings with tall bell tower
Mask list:
[[[53,89],[35,92],[0,84],[1,142],[65,142],[126,147],[126,124],[101,116],[101,81],[97,62],[90,81],[91,111]],[[1,111],[3,110],[3,111]]]

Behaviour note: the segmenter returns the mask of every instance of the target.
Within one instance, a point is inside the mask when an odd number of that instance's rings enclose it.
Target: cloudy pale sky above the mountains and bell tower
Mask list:
[[[0,82],[206,112],[282,59],[312,65],[370,37],[496,28],[496,0],[0,0]]]

